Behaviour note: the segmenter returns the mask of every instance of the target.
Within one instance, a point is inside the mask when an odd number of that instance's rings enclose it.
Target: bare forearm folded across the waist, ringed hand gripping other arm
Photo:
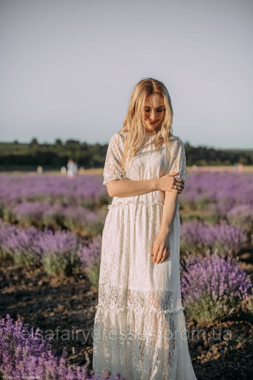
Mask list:
[[[149,193],[154,190],[162,190],[181,194],[184,188],[184,181],[175,177],[178,173],[165,174],[160,178],[131,180],[116,179],[108,182],[106,188],[109,196],[134,196]],[[176,185],[179,189],[176,190]]]

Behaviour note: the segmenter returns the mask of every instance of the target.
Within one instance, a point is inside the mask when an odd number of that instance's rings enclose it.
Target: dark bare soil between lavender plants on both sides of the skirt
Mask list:
[[[242,252],[241,262],[251,273],[251,254]],[[69,362],[84,365],[85,353],[88,353],[89,368],[92,369],[92,331],[98,293],[90,286],[89,280],[77,274],[64,278],[50,277],[42,268],[22,268],[14,266],[11,261],[3,261],[0,266],[0,317],[5,318],[9,314],[14,320],[29,323],[29,331],[33,328],[35,332],[39,327],[44,337],[51,335],[52,330],[52,348],[57,349],[57,355],[61,355],[66,346]],[[252,313],[241,308],[229,320],[215,326],[199,326],[188,321],[186,315],[185,319],[190,332],[190,357],[198,380],[253,379]],[[65,329],[70,332],[69,339]],[[204,330],[199,333],[199,339],[196,334],[191,339],[193,329]],[[231,330],[230,340],[224,339],[228,333],[226,329]],[[86,342],[82,332],[76,339],[78,330],[89,334]]]

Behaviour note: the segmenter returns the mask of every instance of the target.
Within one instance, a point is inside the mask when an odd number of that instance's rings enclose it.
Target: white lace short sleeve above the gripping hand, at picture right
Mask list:
[[[176,177],[181,178],[184,182],[186,180],[186,157],[185,157],[185,146],[183,141],[177,137],[172,143],[171,152],[171,165],[169,168],[169,173],[178,172]]]

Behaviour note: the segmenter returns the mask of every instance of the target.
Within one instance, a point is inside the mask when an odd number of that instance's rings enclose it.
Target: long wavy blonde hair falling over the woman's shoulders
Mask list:
[[[164,84],[157,79],[146,78],[139,81],[131,94],[129,107],[123,120],[123,128],[118,132],[127,132],[121,166],[125,170],[126,159],[129,161],[138,152],[145,138],[145,126],[142,119],[142,112],[145,106],[145,100],[149,95],[159,94],[164,100],[164,117],[160,125],[150,133],[156,136],[154,139],[155,148],[158,148],[165,142],[164,159],[166,162],[166,148],[172,135],[173,110],[171,98]],[[152,142],[153,145],[153,142]]]

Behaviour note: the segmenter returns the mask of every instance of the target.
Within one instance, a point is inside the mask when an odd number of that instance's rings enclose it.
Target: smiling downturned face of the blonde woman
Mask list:
[[[149,95],[145,100],[145,106],[142,112],[142,119],[145,125],[145,131],[152,133],[161,123],[164,117],[164,100],[161,95],[155,93]]]

